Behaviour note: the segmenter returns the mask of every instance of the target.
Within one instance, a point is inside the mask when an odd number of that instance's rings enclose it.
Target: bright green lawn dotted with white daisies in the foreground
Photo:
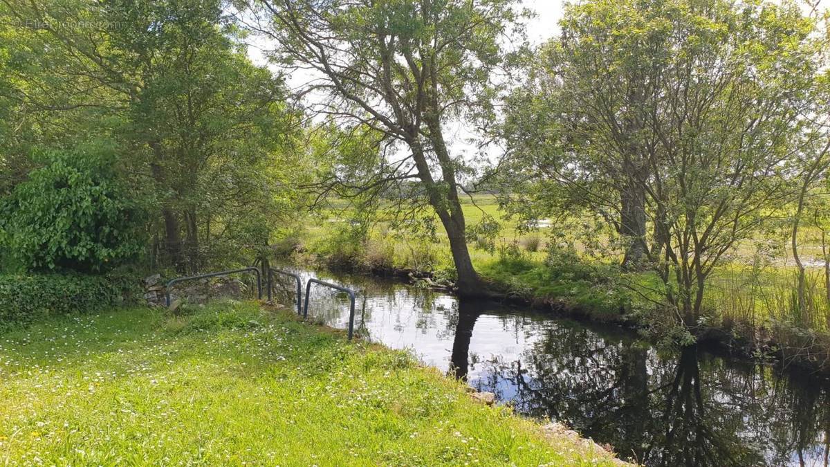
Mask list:
[[[219,302],[0,335],[3,465],[610,465],[402,351]]]

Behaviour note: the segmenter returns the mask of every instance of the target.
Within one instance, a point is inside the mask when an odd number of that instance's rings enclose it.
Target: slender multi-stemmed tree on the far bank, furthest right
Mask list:
[[[824,46],[793,3],[691,2],[677,13],[670,37],[684,40],[669,42],[649,123],[662,153],[651,193],[658,273],[692,325],[715,268],[793,200],[798,161],[827,138],[813,118],[826,112]]]

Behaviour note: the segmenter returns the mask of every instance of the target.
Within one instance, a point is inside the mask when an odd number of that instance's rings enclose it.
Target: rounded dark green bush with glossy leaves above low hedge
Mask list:
[[[106,151],[58,150],[0,207],[0,245],[27,270],[96,272],[144,247],[139,204]]]

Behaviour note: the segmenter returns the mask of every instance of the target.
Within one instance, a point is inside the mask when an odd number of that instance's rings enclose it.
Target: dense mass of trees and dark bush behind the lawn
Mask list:
[[[281,76],[218,1],[40,3],[0,3],[2,263],[249,261],[301,163]]]

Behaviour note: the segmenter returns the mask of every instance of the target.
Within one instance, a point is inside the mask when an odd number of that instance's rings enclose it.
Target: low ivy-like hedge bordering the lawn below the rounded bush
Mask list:
[[[111,307],[135,292],[132,281],[112,276],[0,275],[0,331],[44,317]]]

